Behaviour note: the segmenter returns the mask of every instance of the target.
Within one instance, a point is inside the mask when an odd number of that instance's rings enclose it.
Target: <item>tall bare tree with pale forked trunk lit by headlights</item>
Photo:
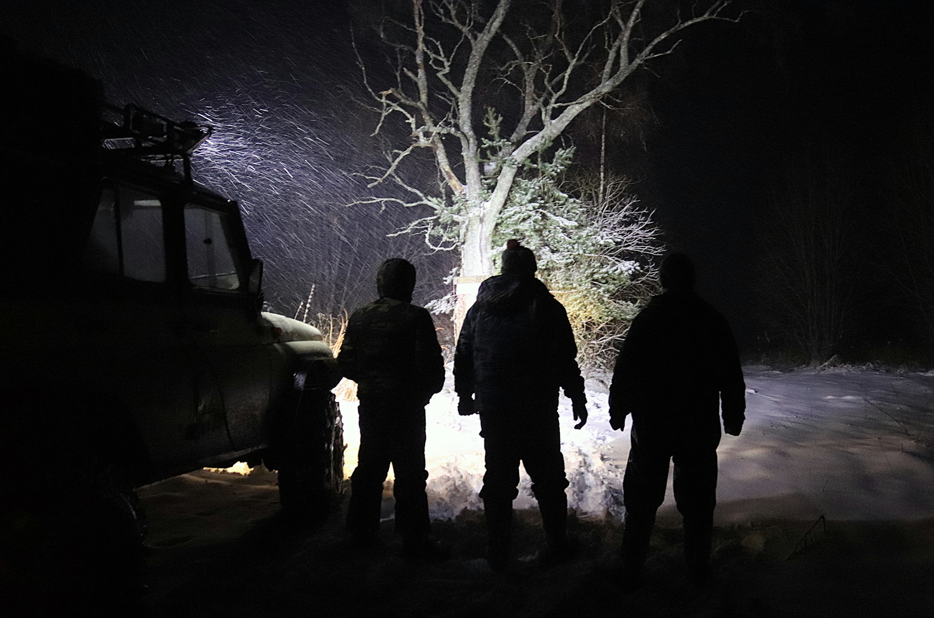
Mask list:
[[[653,6],[671,8],[672,15],[669,25],[652,27],[644,19],[647,1],[571,6],[547,0],[524,4],[534,10],[518,13],[512,0],[411,0],[411,21],[387,16],[377,31],[393,52],[394,81],[377,84],[362,61],[360,66],[377,104],[371,105],[379,114],[374,134],[398,118],[411,142],[389,153],[386,169],[364,176],[370,188],[394,182],[414,197],[375,195],[357,203],[430,207],[433,214],[406,231],[424,233],[436,249],[460,249],[461,275],[492,274],[493,231],[522,162],[549,147],[588,107],[605,105],[637,69],[671,53],[686,28],[739,19],[725,14],[729,0],[701,2],[688,15],[677,2],[656,0]],[[478,100],[490,83],[504,87],[497,97],[506,89],[516,95],[512,107],[502,110],[508,127]],[[400,175],[400,165],[417,148],[432,152],[448,197]],[[473,300],[465,294],[461,310]]]

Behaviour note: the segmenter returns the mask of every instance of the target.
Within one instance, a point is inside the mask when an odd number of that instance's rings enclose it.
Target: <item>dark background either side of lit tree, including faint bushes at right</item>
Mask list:
[[[737,1],[739,24],[689,30],[620,92],[608,164],[697,260],[747,358],[934,357],[928,4]],[[311,315],[336,315],[372,298],[384,257],[416,263],[422,303],[455,263],[387,237],[417,212],[345,206],[363,193],[352,173],[404,139],[370,137],[375,118],[351,102],[351,23],[380,65],[360,19],[379,6],[9,0],[0,32],[101,79],[115,103],[214,124],[195,169],[242,204],[272,309],[293,315],[314,285]],[[581,165],[599,162],[599,113],[570,134]]]

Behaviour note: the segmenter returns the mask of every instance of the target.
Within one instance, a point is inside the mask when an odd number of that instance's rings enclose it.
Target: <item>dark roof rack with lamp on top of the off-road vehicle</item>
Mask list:
[[[191,120],[178,122],[143,109],[105,104],[101,145],[106,150],[127,153],[147,162],[164,162],[171,167],[181,160],[185,180],[191,182],[191,153],[207,139],[212,127]]]

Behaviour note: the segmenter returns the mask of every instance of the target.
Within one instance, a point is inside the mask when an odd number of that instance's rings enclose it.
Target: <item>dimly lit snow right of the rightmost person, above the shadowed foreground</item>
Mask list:
[[[934,515],[934,375],[746,369],[747,422],[719,448],[720,521]]]

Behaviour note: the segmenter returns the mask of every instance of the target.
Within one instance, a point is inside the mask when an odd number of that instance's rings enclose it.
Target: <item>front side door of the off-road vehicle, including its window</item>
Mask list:
[[[199,354],[217,373],[235,451],[266,442],[273,340],[248,295],[249,251],[234,203],[185,204],[185,311]]]

